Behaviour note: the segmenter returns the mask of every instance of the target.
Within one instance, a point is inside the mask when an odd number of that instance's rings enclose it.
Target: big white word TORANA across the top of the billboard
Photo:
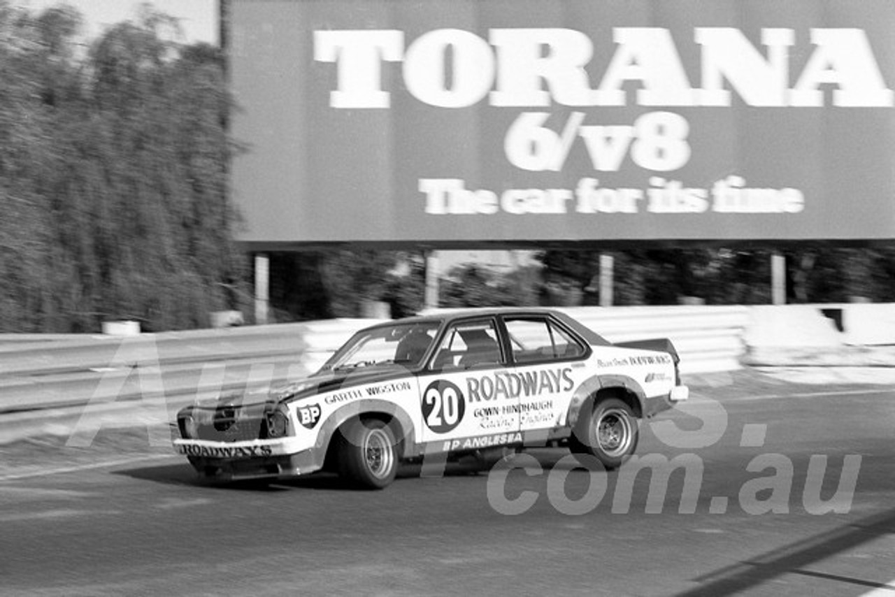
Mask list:
[[[337,89],[329,95],[335,108],[390,107],[383,63],[400,63],[413,98],[446,108],[486,98],[496,107],[728,107],[734,92],[746,106],[823,107],[823,85],[832,87],[832,106],[895,106],[860,29],[813,28],[797,36],[796,30],[767,28],[758,48],[735,28],[696,27],[701,61],[693,74],[702,87],[691,84],[670,30],[616,27],[612,40],[614,52],[599,80],[585,70],[592,39],[571,29],[490,29],[487,40],[439,29],[407,47],[401,30],[317,30],[314,60],[336,64]],[[802,64],[790,55],[809,56],[800,72],[790,72]],[[640,89],[625,90],[628,81],[638,81]]]

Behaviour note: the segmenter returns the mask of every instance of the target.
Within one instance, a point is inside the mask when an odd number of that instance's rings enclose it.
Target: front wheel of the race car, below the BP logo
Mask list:
[[[396,444],[395,433],[385,422],[348,423],[339,446],[339,476],[354,486],[381,490],[395,480]]]

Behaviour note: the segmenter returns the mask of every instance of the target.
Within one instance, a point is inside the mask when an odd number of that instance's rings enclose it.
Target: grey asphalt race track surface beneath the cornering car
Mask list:
[[[374,492],[202,485],[146,430],[19,442],[0,594],[895,595],[895,391],[751,373],[656,422],[636,471],[541,449]]]

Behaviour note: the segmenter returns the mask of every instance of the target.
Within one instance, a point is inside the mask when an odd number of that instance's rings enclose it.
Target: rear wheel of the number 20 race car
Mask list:
[[[582,414],[569,439],[569,448],[575,454],[596,456],[611,470],[634,454],[639,438],[631,407],[618,398],[607,398],[593,405],[589,415]]]

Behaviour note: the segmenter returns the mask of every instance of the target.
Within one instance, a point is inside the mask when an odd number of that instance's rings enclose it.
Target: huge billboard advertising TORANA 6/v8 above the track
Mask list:
[[[891,0],[231,0],[254,246],[895,237]]]

